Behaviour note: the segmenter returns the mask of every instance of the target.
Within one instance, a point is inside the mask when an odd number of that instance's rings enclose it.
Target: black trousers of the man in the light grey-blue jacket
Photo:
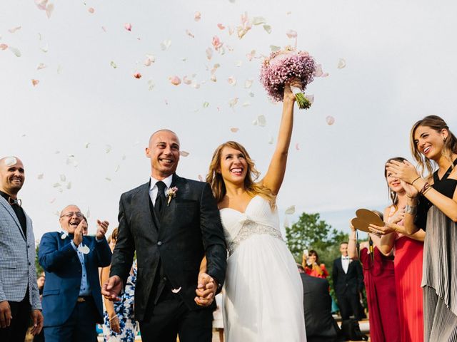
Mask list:
[[[29,290],[22,301],[9,301],[11,308],[11,323],[7,328],[0,328],[1,342],[23,342],[29,328],[31,305],[29,301]]]

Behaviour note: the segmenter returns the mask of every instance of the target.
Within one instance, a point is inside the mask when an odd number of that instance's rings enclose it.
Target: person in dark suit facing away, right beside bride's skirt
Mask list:
[[[306,340],[308,342],[336,342],[340,329],[331,316],[331,296],[327,279],[306,274],[297,264],[303,284],[303,309],[305,311]]]

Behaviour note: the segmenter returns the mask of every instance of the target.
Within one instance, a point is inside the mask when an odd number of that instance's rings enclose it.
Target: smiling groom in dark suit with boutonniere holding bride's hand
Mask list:
[[[179,139],[171,130],[151,135],[146,156],[149,182],[121,195],[119,237],[102,294],[119,297],[136,251],[135,317],[141,338],[175,342],[179,335],[181,342],[209,342],[212,302],[226,271],[216,200],[205,182],[176,175]],[[207,271],[199,276],[205,256]]]

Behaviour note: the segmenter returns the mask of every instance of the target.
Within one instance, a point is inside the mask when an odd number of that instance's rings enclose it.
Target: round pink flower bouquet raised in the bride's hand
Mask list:
[[[281,101],[286,83],[291,78],[299,78],[303,89],[291,87],[291,90],[295,94],[298,108],[308,109],[311,103],[303,95],[303,90],[313,81],[315,72],[316,63],[309,53],[285,48],[272,52],[270,57],[263,61],[260,81],[273,100]]]

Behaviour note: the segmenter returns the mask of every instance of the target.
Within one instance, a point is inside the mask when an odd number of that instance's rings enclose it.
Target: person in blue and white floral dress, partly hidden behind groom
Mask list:
[[[118,229],[114,228],[113,233],[108,238],[111,251],[116,247]],[[101,269],[100,284],[104,284],[109,278],[110,266]],[[109,301],[104,298],[104,341],[105,342],[133,342],[136,336],[136,321],[134,318],[134,294],[136,283],[136,262],[132,266],[130,276],[121,301]]]

